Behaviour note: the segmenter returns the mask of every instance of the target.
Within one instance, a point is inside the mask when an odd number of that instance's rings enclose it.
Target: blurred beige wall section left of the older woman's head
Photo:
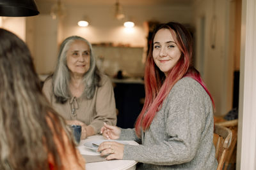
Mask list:
[[[50,15],[27,19],[27,44],[31,49],[36,72],[51,74],[56,66],[58,52],[58,20]]]

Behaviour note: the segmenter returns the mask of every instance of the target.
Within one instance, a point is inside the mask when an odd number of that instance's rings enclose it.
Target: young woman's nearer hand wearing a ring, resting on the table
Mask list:
[[[124,144],[114,142],[114,141],[105,141],[100,144],[97,152],[101,152],[100,155],[108,155],[107,160],[111,159],[123,159],[124,156]]]

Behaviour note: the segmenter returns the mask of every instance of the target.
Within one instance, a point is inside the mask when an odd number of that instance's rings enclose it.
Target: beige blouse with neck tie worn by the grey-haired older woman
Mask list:
[[[45,80],[43,92],[49,102],[66,120],[79,120],[93,127],[95,133],[100,132],[103,123],[116,125],[116,106],[113,86],[108,76],[100,74],[100,87],[96,87],[92,99],[81,96],[71,97],[64,104],[56,103],[52,92],[52,78]]]

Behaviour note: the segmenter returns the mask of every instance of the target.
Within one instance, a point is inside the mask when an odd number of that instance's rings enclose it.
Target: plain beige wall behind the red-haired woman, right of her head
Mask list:
[[[214,4],[215,2],[215,4]],[[215,8],[214,8],[215,6]],[[200,20],[205,18],[204,50],[200,49],[200,42],[196,41],[196,59],[200,52],[204,63],[196,60],[196,67],[202,71],[203,77],[215,104],[216,115],[225,115],[232,108],[232,58],[228,57],[229,49],[229,0],[198,0],[194,4],[194,20],[196,25],[196,39],[200,37]],[[216,27],[212,24],[216,16]],[[214,48],[212,48],[214,44]]]

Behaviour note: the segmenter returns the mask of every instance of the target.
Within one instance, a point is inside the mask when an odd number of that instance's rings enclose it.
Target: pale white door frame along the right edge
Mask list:
[[[237,166],[256,169],[256,1],[242,1]]]

